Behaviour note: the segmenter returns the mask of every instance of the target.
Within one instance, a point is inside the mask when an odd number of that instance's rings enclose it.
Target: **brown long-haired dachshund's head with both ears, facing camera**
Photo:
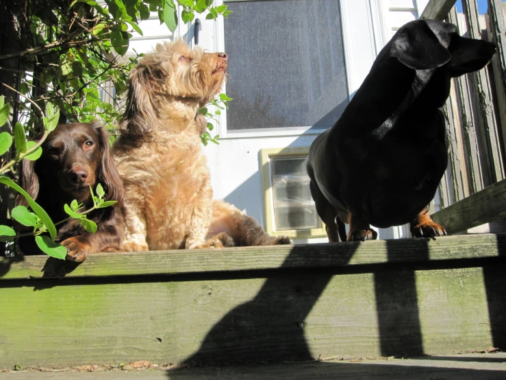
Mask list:
[[[107,200],[123,202],[108,134],[98,123],[60,124],[42,143],[42,156],[37,161],[23,160],[22,170],[23,189],[34,199],[44,191],[66,202],[85,202],[90,187],[100,183]]]

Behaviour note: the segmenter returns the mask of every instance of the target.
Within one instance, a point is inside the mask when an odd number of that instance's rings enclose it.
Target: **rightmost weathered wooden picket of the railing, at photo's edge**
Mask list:
[[[497,113],[503,132],[503,149],[506,149],[506,3],[491,0],[488,5],[488,40],[496,44],[497,53],[492,57],[492,69],[497,99]],[[503,154],[504,154],[503,150]],[[503,159],[506,157],[503,155]],[[504,163],[504,161],[503,161]]]

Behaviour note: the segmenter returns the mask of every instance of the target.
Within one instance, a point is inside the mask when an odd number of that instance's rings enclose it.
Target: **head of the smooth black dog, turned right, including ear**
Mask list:
[[[401,27],[390,45],[390,56],[415,70],[437,69],[446,65],[455,78],[485,67],[496,51],[494,44],[464,38],[451,23],[417,20]]]

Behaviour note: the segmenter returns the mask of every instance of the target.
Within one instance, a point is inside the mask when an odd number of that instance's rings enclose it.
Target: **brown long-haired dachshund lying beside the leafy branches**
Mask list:
[[[67,249],[67,259],[84,261],[92,252],[121,250],[125,226],[121,208],[123,187],[110,154],[108,134],[98,123],[71,123],[53,130],[42,144],[37,161],[23,160],[22,187],[47,211],[53,222],[66,219],[64,204],[73,200],[93,206],[90,187],[101,184],[106,200],[116,204],[96,209],[86,216],[97,224],[96,233],[88,233],[76,219],[56,226],[59,241]],[[27,206],[23,197],[17,204]],[[21,238],[24,254],[38,254],[33,237]]]

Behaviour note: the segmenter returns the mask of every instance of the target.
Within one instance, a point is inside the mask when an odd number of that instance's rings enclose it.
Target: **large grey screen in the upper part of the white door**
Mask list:
[[[336,122],[348,104],[339,3],[227,1],[227,130]]]

